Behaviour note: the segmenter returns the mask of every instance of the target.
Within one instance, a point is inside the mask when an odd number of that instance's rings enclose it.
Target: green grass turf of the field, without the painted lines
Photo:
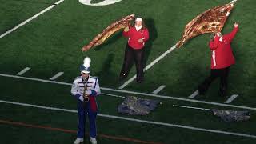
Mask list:
[[[33,3],[34,2],[34,3]],[[39,11],[50,6],[43,2],[55,1],[38,1],[26,2],[22,4],[18,1],[2,2],[0,18],[5,19],[0,23],[1,34],[30,18]],[[96,2],[96,1],[94,1]],[[98,2],[98,1],[97,1]],[[111,22],[118,20],[128,14],[138,14],[146,18],[146,24],[150,30],[150,41],[146,44],[146,64],[158,58],[163,52],[168,50],[182,37],[184,26],[190,22],[196,15],[201,14],[204,10],[230,2],[221,1],[202,1],[195,0],[161,0],[159,2],[152,0],[145,1],[122,1],[110,6],[85,6],[78,1],[65,0],[54,9],[47,11],[33,21],[20,27],[13,33],[0,39],[0,73],[17,74],[25,67],[31,69],[24,74],[25,77],[49,79],[59,71],[65,73],[58,78],[61,82],[72,82],[78,76],[78,66],[82,64],[82,59],[86,56],[92,58],[92,75],[98,75],[101,86],[117,89],[121,83],[118,82],[119,70],[121,70],[124,48],[127,39],[122,37],[121,32],[114,34],[105,44],[98,46],[86,53],[81,52],[82,46],[86,45],[95,35],[100,33]],[[42,4],[43,3],[43,4]],[[15,5],[14,5],[15,4]],[[231,67],[229,78],[228,95],[239,94],[239,97],[232,102],[234,105],[254,107],[256,102],[254,94],[256,93],[255,79],[255,42],[254,42],[254,9],[255,2],[252,0],[238,1],[226,26],[222,30],[228,33],[232,30],[233,22],[240,23],[240,31],[234,38],[232,47],[236,64]],[[18,12],[18,8],[24,12]],[[8,12],[9,10],[9,12]],[[15,11],[17,10],[17,11]],[[6,12],[7,11],[7,12]],[[10,15],[8,15],[10,14]],[[186,43],[182,49],[174,50],[166,58],[158,62],[150,70],[146,71],[146,81],[138,85],[135,82],[130,83],[126,90],[151,93],[158,86],[166,85],[166,88],[160,92],[162,95],[177,96],[187,98],[197,89],[198,84],[210,74],[210,50],[207,46],[209,34],[198,36]],[[130,71],[130,77],[135,74],[134,67]],[[41,82],[30,82],[14,78],[0,78],[1,99],[14,102],[27,102],[43,106],[57,106],[74,110],[76,103],[70,96],[70,86],[58,86]],[[205,97],[198,97],[199,100],[209,102],[225,102],[226,98],[218,97],[218,81],[214,82]],[[100,113],[117,114],[117,106],[122,99],[108,98],[101,96],[98,98]],[[252,118],[249,122],[231,123],[220,122],[203,111],[184,110],[173,108],[172,104],[184,104],[191,106],[208,105],[195,104],[190,102],[176,102],[162,100],[164,105],[159,107],[146,117],[142,118],[157,122],[170,122],[189,126],[200,126],[203,128],[238,131],[249,134],[255,134],[254,122]],[[30,114],[19,115],[15,111],[20,110],[19,106],[8,107],[2,106],[1,118],[17,118],[14,120],[27,121],[31,117],[42,118],[44,114],[37,115],[37,111],[32,110]],[[223,108],[222,106],[209,106],[209,108]],[[28,108],[24,108],[25,113]],[[229,109],[229,108],[226,108]],[[10,113],[9,113],[9,111]],[[14,110],[14,111],[12,111]],[[53,112],[54,113],[54,112]],[[56,112],[58,113],[58,112]],[[13,116],[11,115],[13,114]],[[254,112],[253,112],[254,114]],[[36,116],[34,116],[36,115]],[[49,115],[48,113],[45,116]],[[55,125],[59,117],[56,115],[52,119],[46,119],[45,122]],[[69,129],[75,129],[76,116],[72,114]],[[99,132],[106,134],[124,135],[126,137],[138,138],[149,141],[164,143],[253,143],[252,138],[240,138],[227,136],[223,134],[207,134],[194,130],[183,130],[178,128],[166,128],[163,126],[144,126],[134,122],[108,122],[105,118],[99,118],[102,125]],[[67,119],[62,121],[67,122]],[[27,121],[29,122],[29,121]],[[31,123],[42,123],[39,118],[35,118]],[[64,122],[64,123],[65,123]],[[129,129],[126,125],[130,123]],[[110,126],[108,126],[110,125]],[[2,126],[2,125],[1,125]],[[66,125],[62,125],[66,126]],[[116,126],[116,129],[112,127]],[[17,138],[14,143],[33,143],[39,138],[42,143],[50,143],[50,139],[63,139],[60,142],[73,142],[75,135],[56,134],[56,137],[39,137],[44,133],[35,133],[34,138],[24,138],[19,141],[17,127],[2,126],[2,130],[10,130],[10,135],[4,135],[2,142],[10,138]],[[123,133],[123,130],[131,130]],[[152,129],[152,130],[151,130]],[[149,134],[148,134],[148,131]],[[28,135],[34,131],[22,129],[20,134]],[[159,136],[160,135],[160,136]],[[22,138],[22,137],[21,137]],[[65,141],[65,140],[66,141]],[[102,140],[101,143],[111,143],[111,140]],[[54,142],[57,143],[57,142]]]

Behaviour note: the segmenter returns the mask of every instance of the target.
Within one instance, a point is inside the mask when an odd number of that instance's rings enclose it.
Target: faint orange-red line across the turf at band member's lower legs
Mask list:
[[[24,123],[24,122],[12,122],[12,121],[6,121],[6,120],[0,119],[0,123],[8,124],[11,126],[25,126],[25,127],[30,127],[30,128],[61,131],[64,133],[77,134],[77,130],[67,130],[67,129],[51,127],[51,126],[40,126],[40,125],[28,124],[28,123]],[[89,135],[89,134],[86,134],[86,135]],[[148,141],[142,141],[142,140],[134,139],[134,138],[116,137],[116,136],[106,135],[106,134],[97,134],[97,135],[101,138],[109,138],[109,139],[114,139],[114,140],[119,140],[119,141],[139,142],[139,143],[148,143],[148,144],[160,144],[160,142],[148,142]]]

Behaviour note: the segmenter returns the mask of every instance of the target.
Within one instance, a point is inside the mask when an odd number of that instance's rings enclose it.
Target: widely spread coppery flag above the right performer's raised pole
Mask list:
[[[199,34],[220,32],[236,1],[233,0],[224,6],[216,6],[199,14],[186,25],[182,39],[176,47],[181,47],[187,40]]]

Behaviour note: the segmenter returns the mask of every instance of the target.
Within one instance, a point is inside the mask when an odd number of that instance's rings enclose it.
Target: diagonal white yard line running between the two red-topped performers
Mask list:
[[[164,58],[167,54],[169,54],[171,51],[173,51],[176,48],[176,45],[170,47],[169,50],[167,50],[166,52],[164,52],[162,55],[160,55],[158,58],[156,58],[153,62],[151,62],[149,65],[147,65],[143,71],[145,72],[146,70],[149,70],[155,63],[157,63],[158,61],[160,61],[162,58]],[[130,82],[133,82],[134,79],[136,78],[136,74],[130,78],[127,82],[123,83],[122,86],[119,86],[118,89],[123,89],[125,88]]]

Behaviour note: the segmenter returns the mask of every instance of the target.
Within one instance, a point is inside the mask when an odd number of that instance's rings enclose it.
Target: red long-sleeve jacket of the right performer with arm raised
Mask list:
[[[212,51],[211,69],[222,69],[235,63],[230,44],[237,32],[238,27],[234,28],[230,34],[223,35],[222,38],[216,35],[214,41],[209,42]]]

